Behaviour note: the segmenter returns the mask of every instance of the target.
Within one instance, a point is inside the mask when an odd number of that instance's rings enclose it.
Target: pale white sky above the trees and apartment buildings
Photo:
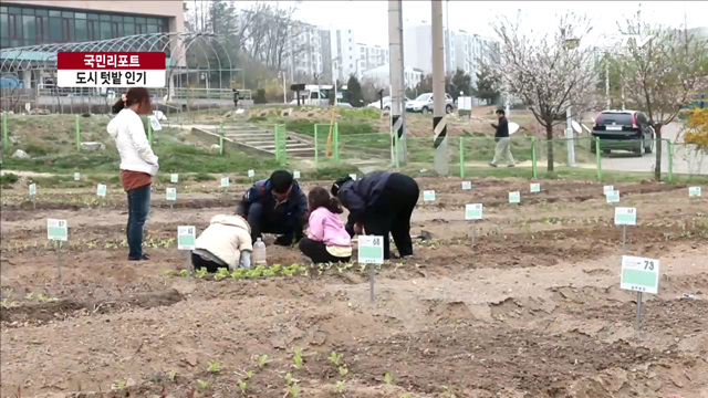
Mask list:
[[[288,7],[293,1],[268,1]],[[244,3],[244,2],[243,2]],[[617,22],[624,21],[642,9],[642,20],[668,27],[688,28],[708,25],[708,1],[470,1],[450,0],[444,2],[444,24],[449,19],[452,30],[493,36],[490,22],[498,15],[516,19],[520,11],[523,25],[533,31],[549,32],[555,28],[555,15],[566,10],[586,13],[593,21],[595,34],[613,34]],[[404,0],[404,24],[430,22],[429,0]],[[447,10],[446,10],[447,9]],[[447,12],[449,10],[449,12]],[[686,11],[686,12],[685,12]],[[449,13],[449,15],[448,15]],[[355,40],[369,45],[388,45],[388,1],[386,0],[303,0],[295,18],[323,28],[353,29]]]

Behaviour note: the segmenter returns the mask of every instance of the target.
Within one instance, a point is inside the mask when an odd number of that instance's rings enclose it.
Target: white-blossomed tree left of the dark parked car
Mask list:
[[[592,50],[579,46],[590,22],[568,13],[552,35],[527,34],[520,15],[513,22],[500,19],[492,28],[501,41],[498,88],[520,98],[545,128],[548,170],[553,171],[553,126],[563,123],[569,107],[576,114],[585,109],[593,88]]]

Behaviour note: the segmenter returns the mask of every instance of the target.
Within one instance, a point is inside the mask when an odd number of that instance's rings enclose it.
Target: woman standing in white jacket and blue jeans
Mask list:
[[[121,182],[128,195],[128,260],[149,260],[143,253],[143,231],[150,211],[150,184],[157,175],[157,156],[153,153],[139,115],[152,112],[150,96],[143,87],[129,88],[113,105],[117,114],[108,123],[108,134],[121,155]]]

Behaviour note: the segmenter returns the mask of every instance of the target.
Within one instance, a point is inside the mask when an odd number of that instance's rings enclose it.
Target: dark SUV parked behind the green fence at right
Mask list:
[[[641,111],[603,111],[593,126],[593,137],[600,139],[604,154],[613,149],[634,151],[638,156],[654,151],[654,127]],[[591,145],[595,153],[595,146]]]

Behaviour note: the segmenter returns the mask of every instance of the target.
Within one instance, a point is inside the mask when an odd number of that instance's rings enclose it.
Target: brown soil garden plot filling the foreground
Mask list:
[[[662,261],[659,294],[620,289],[622,230],[601,184],[419,179],[416,258],[183,276],[177,226],[206,228],[236,192],[153,195],[146,252],[127,262],[125,198],[108,186],[3,190],[2,370],[12,397],[705,397],[708,202],[674,185],[620,184],[637,209],[626,251]],[[322,181],[329,185],[331,181]],[[313,182],[303,184],[305,189]],[[508,193],[520,192],[519,203]],[[91,201],[90,201],[91,199]],[[29,205],[28,205],[29,203]],[[188,203],[188,205],[187,205]],[[465,205],[482,203],[469,238]],[[46,219],[65,219],[62,279]]]

